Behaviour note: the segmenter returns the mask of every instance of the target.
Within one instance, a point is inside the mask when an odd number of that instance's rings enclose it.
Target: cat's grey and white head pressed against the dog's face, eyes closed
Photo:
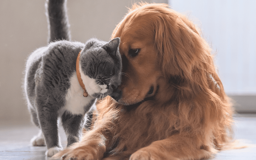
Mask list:
[[[116,92],[121,84],[122,60],[118,51],[120,38],[108,43],[90,39],[80,55],[80,73],[90,96],[103,98]]]

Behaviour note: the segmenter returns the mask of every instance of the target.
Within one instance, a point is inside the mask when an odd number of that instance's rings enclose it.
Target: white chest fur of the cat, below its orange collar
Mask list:
[[[70,88],[66,95],[66,105],[62,109],[63,111],[68,110],[72,114],[85,114],[84,107],[87,106],[93,97],[83,96],[84,90],[80,86],[76,73],[70,78]]]

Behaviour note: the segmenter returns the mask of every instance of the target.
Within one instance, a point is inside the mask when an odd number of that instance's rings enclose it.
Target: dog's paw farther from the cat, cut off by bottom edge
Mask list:
[[[134,152],[130,156],[129,160],[159,160],[159,159],[161,159],[161,158],[150,154],[148,151],[140,149],[140,150]]]

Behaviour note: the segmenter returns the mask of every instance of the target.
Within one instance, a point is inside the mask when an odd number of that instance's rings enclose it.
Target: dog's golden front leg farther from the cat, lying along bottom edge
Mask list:
[[[177,134],[137,150],[130,160],[199,160],[210,155],[210,148],[204,146],[198,138]]]

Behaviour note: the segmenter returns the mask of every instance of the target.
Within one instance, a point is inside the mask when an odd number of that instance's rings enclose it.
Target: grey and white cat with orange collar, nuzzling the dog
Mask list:
[[[118,52],[119,38],[110,42],[93,38],[85,44],[67,41],[70,35],[66,1],[49,0],[47,3],[52,42],[28,57],[24,91],[32,120],[40,128],[39,134],[31,140],[32,144],[42,146],[46,143],[46,155],[53,156],[62,149],[58,118],[68,137],[67,146],[79,141],[86,113],[93,109],[96,99],[116,92],[120,85],[122,63]],[[67,40],[53,42],[55,39]],[[87,97],[83,96],[84,90],[76,75],[80,51],[79,71]]]

